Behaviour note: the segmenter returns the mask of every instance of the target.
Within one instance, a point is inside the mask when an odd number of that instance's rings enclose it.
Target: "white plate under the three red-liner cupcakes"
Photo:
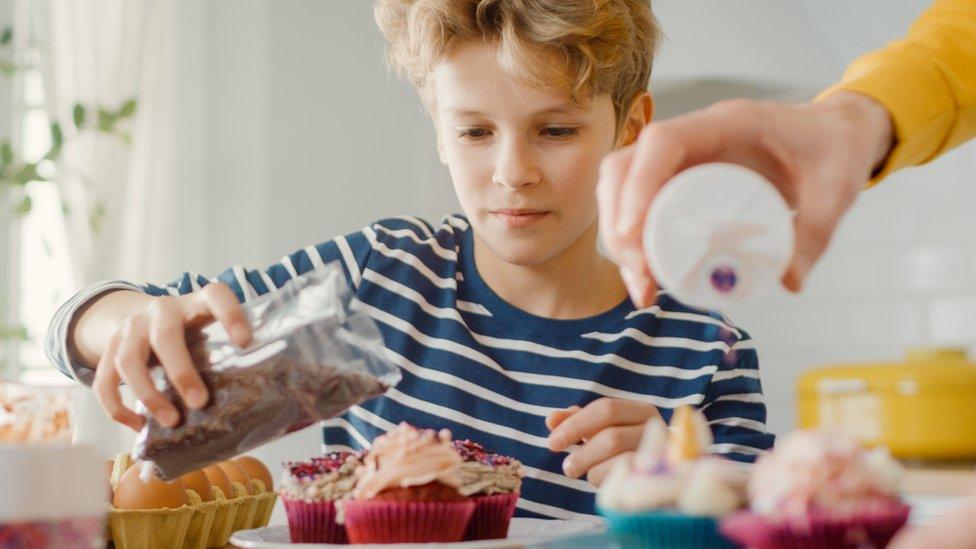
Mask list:
[[[396,547],[437,547],[441,549],[508,549],[535,543],[556,541],[587,534],[599,534],[606,527],[602,524],[574,520],[543,520],[513,518],[508,528],[508,539],[485,541],[465,541],[461,543],[402,544]],[[356,547],[362,549],[389,549],[393,545],[333,545],[331,543],[291,543],[288,526],[268,526],[256,530],[241,530],[230,538],[230,542],[243,549],[326,549],[329,547]]]

